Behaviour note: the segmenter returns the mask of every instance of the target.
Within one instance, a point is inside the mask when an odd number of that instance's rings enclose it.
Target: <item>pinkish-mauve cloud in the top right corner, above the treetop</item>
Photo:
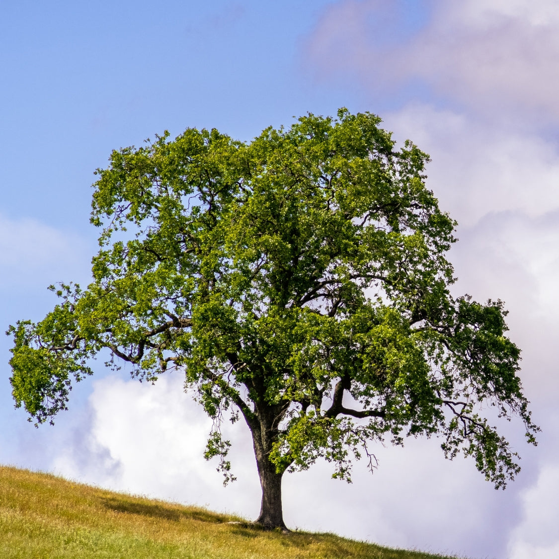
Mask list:
[[[416,27],[404,25],[402,4],[344,0],[326,8],[305,44],[312,72],[331,79],[349,71],[385,93],[419,80],[439,97],[493,116],[559,118],[556,2],[434,0],[429,20]]]

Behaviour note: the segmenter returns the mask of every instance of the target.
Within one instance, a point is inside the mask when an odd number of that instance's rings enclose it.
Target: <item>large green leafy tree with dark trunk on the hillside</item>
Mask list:
[[[140,380],[180,371],[226,480],[219,421],[247,423],[268,527],[285,528],[286,470],[323,457],[349,480],[354,457],[373,467],[373,443],[410,435],[504,487],[517,454],[492,421],[518,415],[534,444],[538,430],[506,311],[451,295],[456,224],[425,186],[428,155],[379,124],[344,109],[250,143],[188,129],[113,151],[91,285],[51,286],[54,310],[10,327],[16,405],[51,420],[100,352]]]

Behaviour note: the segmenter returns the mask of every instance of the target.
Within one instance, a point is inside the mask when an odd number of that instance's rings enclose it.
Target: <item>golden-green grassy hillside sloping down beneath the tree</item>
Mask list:
[[[228,524],[228,522],[240,522]],[[0,467],[3,559],[427,559],[331,534],[283,535],[243,519]]]

